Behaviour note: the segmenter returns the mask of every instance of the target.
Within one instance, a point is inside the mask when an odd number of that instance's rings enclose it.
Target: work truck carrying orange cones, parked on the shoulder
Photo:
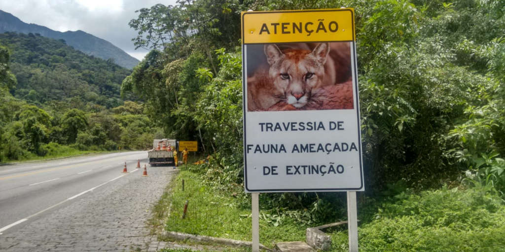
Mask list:
[[[147,152],[150,166],[174,164],[174,150],[177,149],[175,139],[155,139],[153,149]]]

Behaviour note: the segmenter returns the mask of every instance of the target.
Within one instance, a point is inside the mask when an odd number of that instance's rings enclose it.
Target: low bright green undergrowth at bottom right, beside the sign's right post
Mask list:
[[[441,188],[390,200],[361,223],[361,251],[505,250],[505,206],[489,188]],[[332,239],[333,251],[349,251],[347,232]]]

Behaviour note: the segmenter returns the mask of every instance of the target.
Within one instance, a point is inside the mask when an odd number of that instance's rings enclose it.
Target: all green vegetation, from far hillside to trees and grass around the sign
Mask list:
[[[138,31],[135,45],[153,49],[129,76],[112,62],[86,69],[95,59],[64,60],[75,53],[62,42],[4,34],[12,48],[11,60],[0,48],[0,157],[44,156],[58,146],[138,149],[155,136],[198,140],[212,160],[181,173],[178,179],[194,185],[170,199],[167,226],[245,239],[240,11],[341,6],[356,13],[367,190],[359,195],[360,244],[374,251],[503,250],[503,0],[159,4],[129,23]],[[122,102],[135,97],[142,103]],[[185,200],[192,215],[183,221],[177,214]],[[264,194],[260,205],[267,244],[346,219],[337,193]],[[334,239],[344,244],[335,250],[346,249],[345,232]]]

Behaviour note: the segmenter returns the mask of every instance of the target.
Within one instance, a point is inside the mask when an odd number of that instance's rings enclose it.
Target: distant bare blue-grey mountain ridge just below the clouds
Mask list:
[[[132,69],[139,62],[138,59],[130,56],[111,42],[81,30],[54,31],[45,26],[27,24],[14,15],[0,10],[0,33],[4,32],[38,33],[48,38],[63,39],[68,45],[77,50],[106,60],[112,58],[116,64],[128,69]]]

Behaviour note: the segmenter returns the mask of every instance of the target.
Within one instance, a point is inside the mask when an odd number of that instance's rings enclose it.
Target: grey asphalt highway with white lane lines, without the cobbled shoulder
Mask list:
[[[90,192],[104,192],[122,179],[147,152],[121,152],[43,162],[0,165],[0,234],[15,231],[38,218],[72,204]],[[140,174],[138,174],[140,175]]]

